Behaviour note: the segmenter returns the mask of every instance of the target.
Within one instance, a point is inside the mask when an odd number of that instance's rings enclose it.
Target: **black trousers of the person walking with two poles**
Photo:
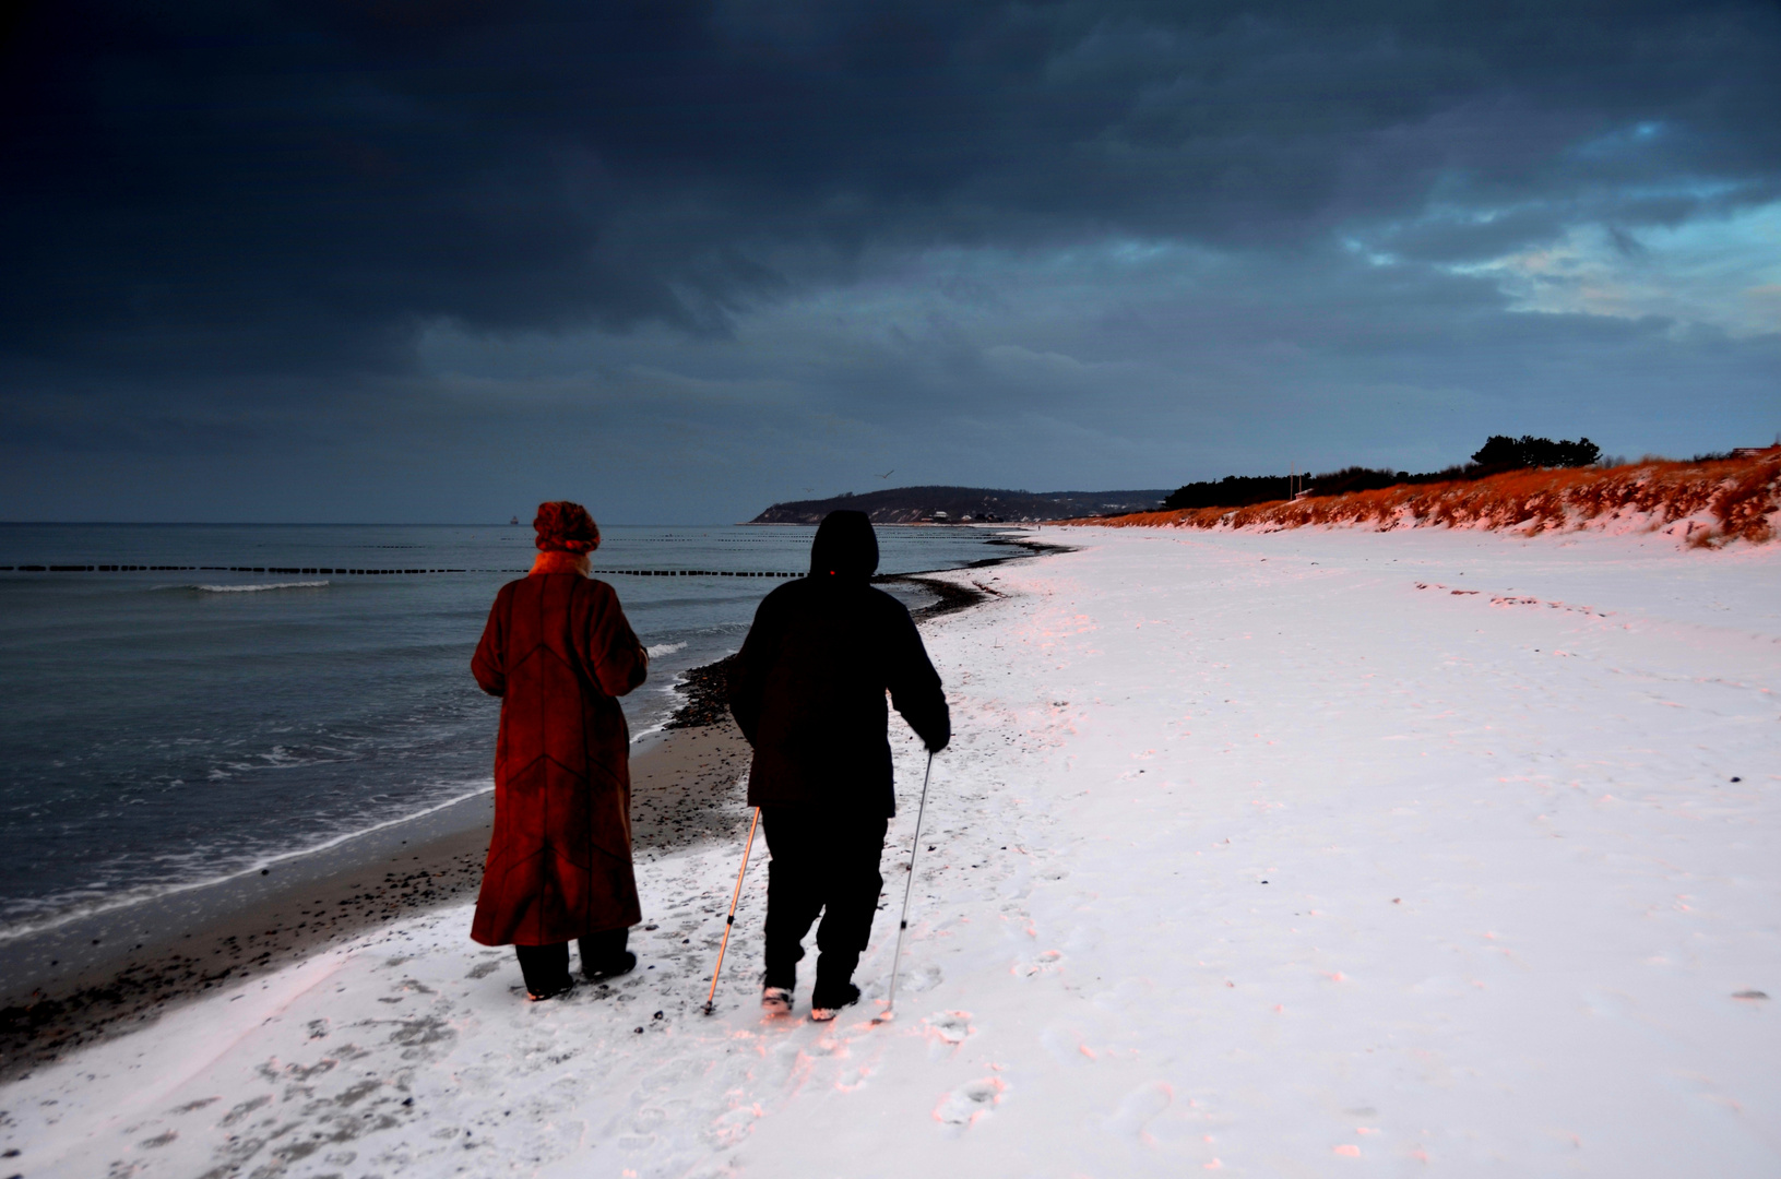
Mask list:
[[[823,914],[816,930],[817,987],[839,987],[873,935],[878,912],[878,857],[883,853],[889,819],[864,814],[832,814],[809,807],[762,807],[768,833],[768,972],[764,985],[791,990],[803,958],[803,935]]]

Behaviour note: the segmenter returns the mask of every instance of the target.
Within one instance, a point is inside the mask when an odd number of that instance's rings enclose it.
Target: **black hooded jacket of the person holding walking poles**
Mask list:
[[[908,609],[869,584],[878,538],[862,511],[832,511],[810,573],[760,602],[730,673],[730,712],[755,746],[748,805],[896,814],[885,691],[930,750],[951,716]]]

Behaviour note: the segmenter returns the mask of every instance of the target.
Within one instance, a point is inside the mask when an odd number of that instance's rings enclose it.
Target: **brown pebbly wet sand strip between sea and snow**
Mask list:
[[[732,721],[671,732],[630,759],[639,860],[741,839],[748,743]],[[493,794],[249,874],[0,942],[0,1081],[367,930],[468,901]],[[470,947],[468,921],[465,949]]]

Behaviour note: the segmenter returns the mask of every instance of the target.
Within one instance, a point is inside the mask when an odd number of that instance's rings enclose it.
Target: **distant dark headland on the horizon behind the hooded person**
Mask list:
[[[750,524],[821,524],[832,511],[864,511],[873,524],[1038,524],[1156,511],[1168,488],[1147,492],[1001,492],[994,488],[885,488],[864,495],[773,504]]]

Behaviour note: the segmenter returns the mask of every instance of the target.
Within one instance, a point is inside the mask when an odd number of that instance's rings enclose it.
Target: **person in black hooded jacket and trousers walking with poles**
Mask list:
[[[871,586],[876,568],[866,513],[828,513],[809,577],[760,602],[730,675],[730,712],[755,750],[748,803],[760,807],[773,857],[760,994],[769,1012],[791,1010],[817,914],[812,1019],[860,997],[853,967],[871,939],[896,814],[885,693],[930,752],[951,737],[940,677],[908,609]]]

